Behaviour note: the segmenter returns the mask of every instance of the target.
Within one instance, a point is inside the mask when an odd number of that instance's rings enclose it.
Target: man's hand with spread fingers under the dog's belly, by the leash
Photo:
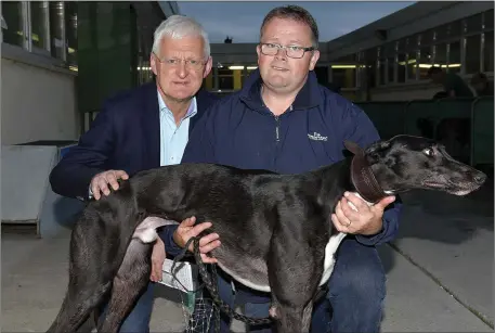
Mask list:
[[[187,243],[187,241],[191,238],[197,236],[199,233],[201,233],[203,231],[205,231],[206,229],[211,227],[211,222],[203,222],[203,223],[199,223],[196,226],[194,226],[194,222],[196,222],[196,217],[193,216],[193,217],[186,218],[185,220],[182,221],[182,223],[179,225],[175,232],[173,233],[173,241],[180,247],[184,248],[185,243]],[[220,241],[219,241],[218,233],[210,233],[210,234],[203,236],[199,240],[199,253],[201,254],[203,262],[216,264],[217,259],[209,257],[206,254],[219,246],[220,246]],[[190,252],[193,252],[194,244],[191,243],[190,246],[187,247],[187,249]]]

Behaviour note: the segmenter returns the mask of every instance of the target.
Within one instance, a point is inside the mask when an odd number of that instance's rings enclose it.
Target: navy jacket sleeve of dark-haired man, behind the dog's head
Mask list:
[[[380,139],[369,117],[354,104],[350,104],[348,107],[348,112],[342,117],[342,123],[341,128],[346,129],[343,139],[354,141],[362,148],[366,148]],[[364,245],[380,245],[392,241],[399,231],[399,217],[402,206],[401,197],[395,195],[395,201],[388,205],[383,212],[382,230],[375,235],[356,235],[357,242]]]

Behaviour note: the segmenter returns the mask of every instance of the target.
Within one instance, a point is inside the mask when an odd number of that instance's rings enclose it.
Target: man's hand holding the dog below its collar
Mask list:
[[[340,232],[372,235],[381,231],[385,208],[395,201],[395,196],[387,196],[373,206],[353,193],[346,192],[331,214],[331,221]],[[349,203],[352,203],[354,210]]]

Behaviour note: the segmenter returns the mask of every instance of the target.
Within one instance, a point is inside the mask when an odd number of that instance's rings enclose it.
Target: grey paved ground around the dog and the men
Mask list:
[[[405,195],[399,239],[379,248],[388,274],[382,332],[493,332],[493,188],[469,197]],[[2,332],[42,332],[67,283],[68,232],[2,234]],[[159,289],[152,331],[184,325],[178,294]],[[240,323],[233,325],[243,331]]]

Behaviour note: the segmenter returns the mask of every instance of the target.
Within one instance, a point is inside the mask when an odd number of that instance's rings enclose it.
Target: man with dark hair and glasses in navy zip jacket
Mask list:
[[[361,146],[377,141],[377,130],[362,110],[317,84],[313,72],[320,56],[317,40],[316,23],[304,9],[272,10],[260,30],[259,71],[199,120],[182,162],[304,172],[342,159],[346,139]],[[386,277],[375,245],[396,233],[400,203],[392,204],[394,200],[386,197],[368,207],[350,194],[337,205],[331,221],[348,236],[337,253],[326,299],[316,305],[313,332],[378,331]],[[219,276],[225,302],[244,304],[248,316],[268,316],[269,295],[234,285],[226,276]],[[224,318],[222,332],[227,330]]]

